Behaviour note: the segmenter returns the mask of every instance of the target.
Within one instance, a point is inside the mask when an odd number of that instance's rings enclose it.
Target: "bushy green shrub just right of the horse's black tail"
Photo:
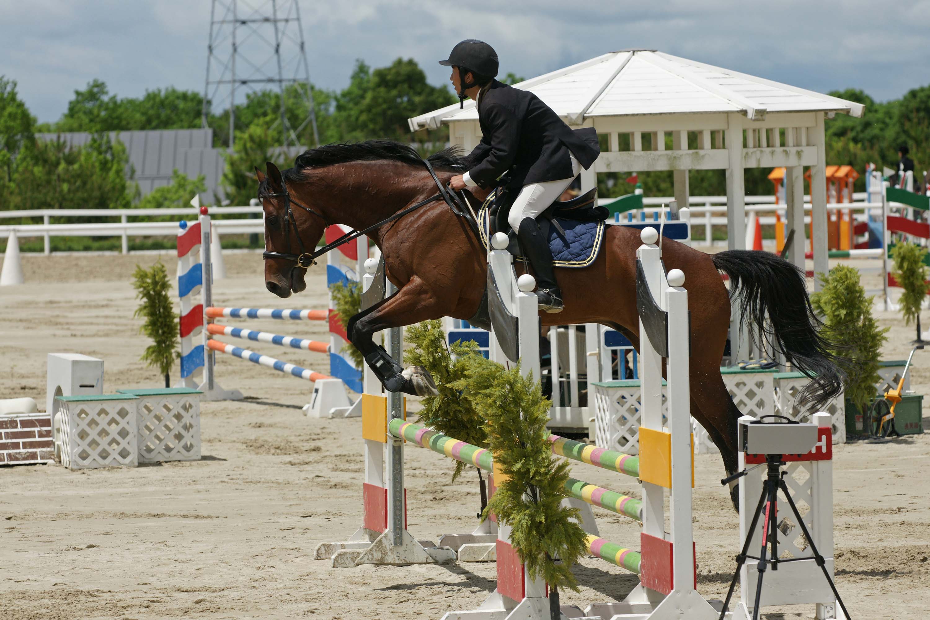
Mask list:
[[[866,434],[864,414],[875,400],[882,345],[888,328],[872,316],[872,297],[859,282],[859,272],[839,265],[820,277],[823,288],[811,305],[830,330],[832,352],[844,360],[847,434]]]

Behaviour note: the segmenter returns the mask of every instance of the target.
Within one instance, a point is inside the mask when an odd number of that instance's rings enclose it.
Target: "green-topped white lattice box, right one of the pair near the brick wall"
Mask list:
[[[191,388],[117,389],[139,398],[139,462],[200,460],[200,394]]]

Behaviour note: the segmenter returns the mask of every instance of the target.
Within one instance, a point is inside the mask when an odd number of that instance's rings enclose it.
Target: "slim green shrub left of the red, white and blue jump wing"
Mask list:
[[[136,265],[133,288],[136,289],[136,298],[142,300],[133,316],[145,319],[139,331],[152,338],[152,344],[145,349],[140,360],[150,368],[157,368],[165,376],[165,387],[170,388],[171,367],[178,357],[178,315],[168,295],[171,280],[165,265],[158,261],[151,270]]]

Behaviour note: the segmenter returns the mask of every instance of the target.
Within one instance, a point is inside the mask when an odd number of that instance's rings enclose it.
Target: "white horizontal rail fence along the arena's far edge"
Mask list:
[[[864,191],[856,192],[854,199],[864,201],[868,194]],[[615,199],[601,199],[602,204],[613,202]],[[669,204],[673,198],[658,197],[644,198],[644,208],[634,213],[634,218],[639,218],[638,213],[644,213],[648,220],[658,215],[663,204]],[[784,211],[783,204],[775,204],[774,196],[746,196],[746,212],[768,212]],[[804,196],[804,210],[810,211],[810,196]],[[713,226],[725,226],[726,224],[726,196],[691,196],[688,200],[691,209],[692,227],[704,227],[704,239],[712,239]],[[827,208],[834,209],[852,209],[857,211],[854,217],[857,221],[866,218],[867,209],[881,209],[881,203],[854,202],[828,204]],[[214,217],[214,225],[220,234],[251,234],[261,233],[264,229],[263,222],[260,218],[261,206],[211,206],[210,215]],[[171,216],[182,218],[191,218],[196,216],[197,210],[193,207],[178,207],[166,209],[34,209],[22,211],[0,211],[0,220],[8,218],[42,218],[42,224],[17,224],[13,226],[0,226],[0,239],[6,239],[10,231],[16,230],[17,236],[22,237],[43,237],[45,240],[45,254],[51,253],[51,237],[121,237],[123,254],[128,253],[129,237],[156,237],[156,236],[175,236],[178,232],[177,221],[165,222],[137,222],[129,221],[129,218],[151,218]],[[242,216],[234,219],[216,219],[217,216]],[[254,216],[259,216],[258,218]],[[102,223],[74,223],[74,224],[52,224],[51,218],[119,218],[119,221],[102,222]],[[784,220],[784,218],[782,218]],[[760,222],[766,225],[774,225],[774,215],[762,216]],[[804,218],[809,222],[810,218]]]

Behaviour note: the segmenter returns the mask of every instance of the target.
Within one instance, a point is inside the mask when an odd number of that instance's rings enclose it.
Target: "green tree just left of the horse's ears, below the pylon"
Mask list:
[[[220,181],[226,198],[232,204],[248,204],[259,190],[255,178],[255,166],[264,170],[265,162],[278,167],[285,165],[286,156],[282,149],[280,129],[274,130],[280,120],[274,114],[260,118],[245,131],[236,132],[232,152],[225,152],[226,169]]]

